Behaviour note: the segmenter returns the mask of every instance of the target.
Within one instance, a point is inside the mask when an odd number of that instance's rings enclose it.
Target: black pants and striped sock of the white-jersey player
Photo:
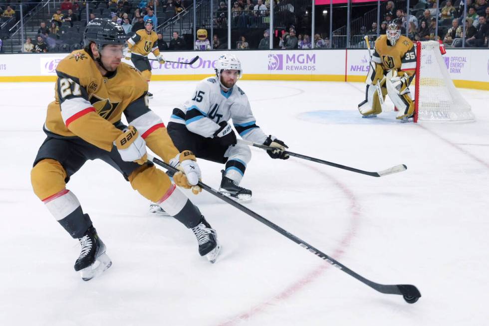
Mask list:
[[[246,165],[251,160],[247,145],[222,146],[214,138],[207,138],[187,129],[184,124],[169,122],[168,134],[180,148],[191,150],[196,157],[216,163],[226,163],[226,177],[240,184],[245,175]]]

